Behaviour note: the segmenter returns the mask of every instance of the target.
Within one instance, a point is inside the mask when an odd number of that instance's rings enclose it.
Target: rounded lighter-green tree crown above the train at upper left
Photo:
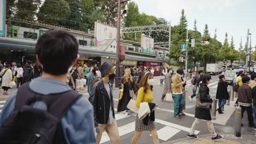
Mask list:
[[[38,21],[52,25],[65,25],[70,15],[68,2],[63,0],[45,0],[37,14]]]

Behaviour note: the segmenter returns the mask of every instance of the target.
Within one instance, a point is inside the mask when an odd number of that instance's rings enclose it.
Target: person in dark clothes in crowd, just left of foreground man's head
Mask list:
[[[23,83],[30,82],[33,78],[34,68],[32,67],[32,62],[27,61],[26,67],[23,69]]]

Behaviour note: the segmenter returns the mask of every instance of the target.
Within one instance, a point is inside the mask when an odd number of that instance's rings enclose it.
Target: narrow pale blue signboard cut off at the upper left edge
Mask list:
[[[0,0],[0,36],[5,36],[6,0]]]

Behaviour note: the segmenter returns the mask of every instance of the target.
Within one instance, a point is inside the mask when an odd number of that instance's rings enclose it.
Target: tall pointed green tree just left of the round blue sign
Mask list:
[[[182,16],[178,26],[174,26],[171,36],[172,45],[170,48],[170,58],[178,61],[178,57],[182,55],[181,45],[186,43],[188,21],[185,16],[184,9],[182,9]]]

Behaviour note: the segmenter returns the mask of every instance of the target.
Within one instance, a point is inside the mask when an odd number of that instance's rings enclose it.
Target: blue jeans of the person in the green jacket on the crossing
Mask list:
[[[178,116],[185,105],[184,94],[172,94],[174,99],[174,115]]]

